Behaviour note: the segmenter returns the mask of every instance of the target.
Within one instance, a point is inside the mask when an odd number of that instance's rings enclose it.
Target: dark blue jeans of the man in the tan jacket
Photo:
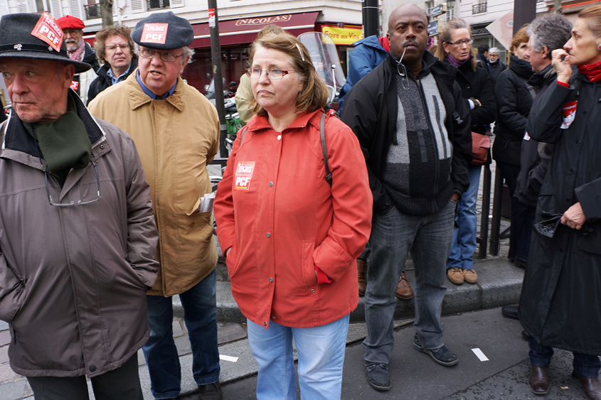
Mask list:
[[[219,379],[216,286],[217,274],[213,271],[179,295],[192,348],[192,372],[199,385]],[[150,374],[150,389],[155,399],[175,398],[181,389],[181,367],[173,337],[171,297],[147,296],[147,303],[150,338],[142,350]]]

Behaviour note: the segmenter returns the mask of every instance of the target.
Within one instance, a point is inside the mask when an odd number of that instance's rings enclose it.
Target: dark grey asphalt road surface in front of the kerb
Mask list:
[[[346,347],[342,399],[585,399],[580,382],[570,377],[572,355],[563,350],[555,352],[551,364],[549,394],[532,394],[528,385],[528,344],[521,336],[521,325],[504,318],[500,308],[449,315],[442,320],[445,345],[457,354],[459,364],[435,364],[429,356],[413,349],[413,328],[402,328],[395,332],[395,350],[389,365],[393,383],[390,391],[378,392],[369,386],[363,349],[358,342]],[[489,360],[480,361],[472,351],[475,348]],[[256,376],[227,384],[223,387],[223,399],[255,399],[256,385]],[[299,393],[297,398],[300,399]]]

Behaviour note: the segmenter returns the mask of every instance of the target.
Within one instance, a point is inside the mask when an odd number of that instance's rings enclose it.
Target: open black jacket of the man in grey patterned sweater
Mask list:
[[[424,53],[422,60],[424,69],[417,79],[429,73],[435,78],[445,104],[445,128],[453,144],[450,180],[455,192],[464,193],[469,186],[467,166],[472,161],[472,133],[469,108],[462,99],[459,84],[454,80],[457,68],[440,62],[429,52]],[[341,120],[353,129],[366,156],[375,212],[383,212],[392,204],[380,179],[385,170],[388,149],[396,138],[397,71],[396,61],[389,55],[346,94],[341,114]]]

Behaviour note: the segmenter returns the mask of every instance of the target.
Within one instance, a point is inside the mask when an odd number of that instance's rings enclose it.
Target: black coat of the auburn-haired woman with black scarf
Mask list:
[[[528,61],[512,55],[509,68],[496,80],[497,119],[492,158],[500,163],[520,165],[521,141],[533,102],[532,87],[528,87],[526,81],[533,73]]]

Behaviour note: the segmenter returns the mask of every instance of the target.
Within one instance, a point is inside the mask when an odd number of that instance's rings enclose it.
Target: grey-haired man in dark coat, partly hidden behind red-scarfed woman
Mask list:
[[[571,31],[570,21],[558,13],[538,17],[528,26],[530,63],[535,72],[528,80],[528,85],[534,88],[536,98],[555,83],[557,73],[551,65],[551,53],[553,50],[563,48],[563,45],[570,40]],[[536,107],[536,99],[533,107]],[[532,139],[527,133],[524,135],[515,196],[528,206],[524,229],[530,231],[534,224],[538,193],[545,180],[552,154],[552,143],[541,143]],[[504,306],[501,311],[508,318],[518,319],[518,306]]]

